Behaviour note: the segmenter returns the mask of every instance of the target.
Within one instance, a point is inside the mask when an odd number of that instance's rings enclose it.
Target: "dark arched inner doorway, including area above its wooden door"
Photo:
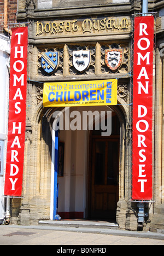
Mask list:
[[[119,201],[120,123],[112,113],[112,134],[102,137],[101,131],[90,132],[88,217],[116,218]]]

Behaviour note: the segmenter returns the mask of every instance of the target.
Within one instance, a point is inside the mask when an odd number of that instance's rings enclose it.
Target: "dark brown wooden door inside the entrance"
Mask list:
[[[109,139],[95,139],[92,146],[91,217],[115,219],[119,200],[119,139],[112,144]]]

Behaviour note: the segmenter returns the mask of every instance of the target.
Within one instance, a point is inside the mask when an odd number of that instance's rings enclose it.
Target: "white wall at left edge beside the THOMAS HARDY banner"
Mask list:
[[[4,169],[7,148],[7,129],[8,129],[8,91],[9,91],[9,52],[10,40],[0,34],[0,140],[4,141]],[[1,170],[2,172],[2,170]],[[4,217],[4,175],[0,175],[0,219]]]

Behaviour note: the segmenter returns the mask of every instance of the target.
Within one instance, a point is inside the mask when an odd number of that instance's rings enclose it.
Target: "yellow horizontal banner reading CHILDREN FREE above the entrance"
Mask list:
[[[103,106],[117,104],[118,80],[44,83],[44,107]]]

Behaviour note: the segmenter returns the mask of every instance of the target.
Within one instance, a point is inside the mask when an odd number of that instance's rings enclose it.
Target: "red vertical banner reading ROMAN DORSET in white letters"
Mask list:
[[[132,199],[153,197],[154,17],[134,19]]]

